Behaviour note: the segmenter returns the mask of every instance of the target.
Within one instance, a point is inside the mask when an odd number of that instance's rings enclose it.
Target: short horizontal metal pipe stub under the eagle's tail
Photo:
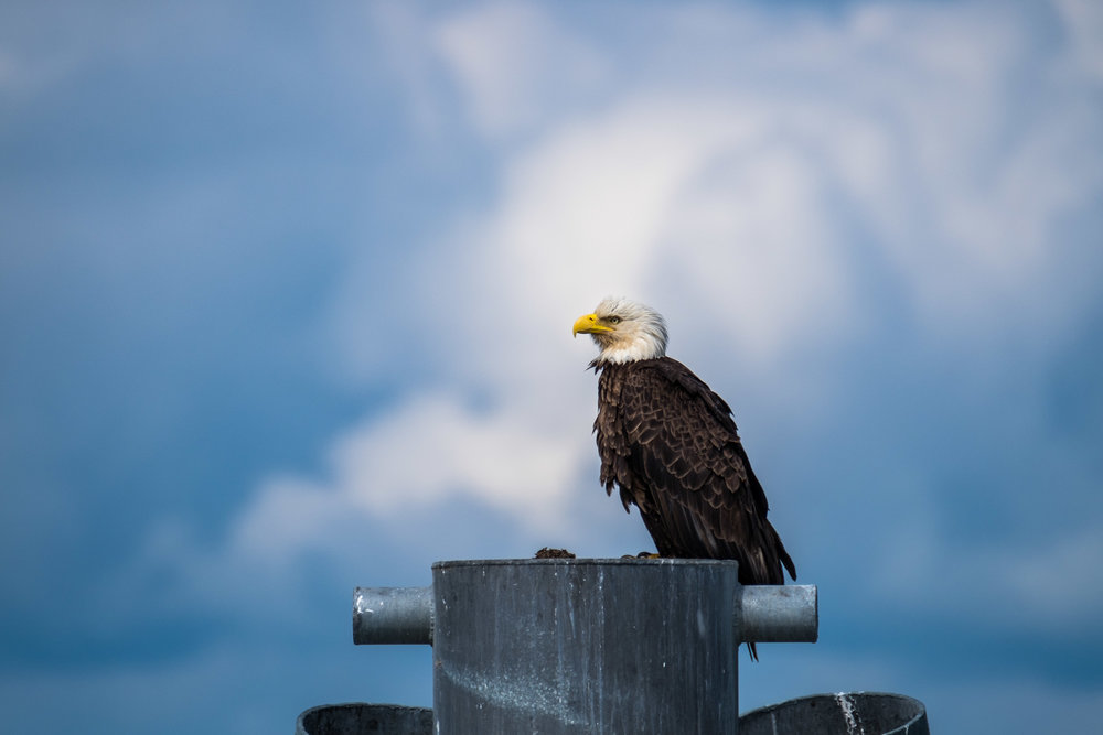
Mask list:
[[[739,639],[743,642],[814,644],[820,637],[820,602],[814,584],[742,587]]]

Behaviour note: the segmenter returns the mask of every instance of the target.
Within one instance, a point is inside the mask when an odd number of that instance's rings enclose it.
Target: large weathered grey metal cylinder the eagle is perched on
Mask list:
[[[737,569],[433,564],[437,732],[735,735]]]

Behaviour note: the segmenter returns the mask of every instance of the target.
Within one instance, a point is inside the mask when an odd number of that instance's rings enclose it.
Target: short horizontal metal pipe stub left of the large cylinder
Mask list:
[[[432,587],[356,587],[354,644],[432,645]]]

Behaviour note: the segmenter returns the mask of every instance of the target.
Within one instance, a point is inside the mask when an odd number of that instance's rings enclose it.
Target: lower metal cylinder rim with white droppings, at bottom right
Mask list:
[[[814,694],[748,712],[740,735],[930,735],[927,709],[902,694]]]

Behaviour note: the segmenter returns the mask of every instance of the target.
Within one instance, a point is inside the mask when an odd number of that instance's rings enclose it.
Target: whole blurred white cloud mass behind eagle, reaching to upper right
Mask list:
[[[572,485],[593,464],[595,387],[580,370],[592,349],[567,329],[608,293],[662,306],[679,357],[714,375],[737,359],[779,404],[794,385],[815,393],[802,404],[823,402],[803,350],[846,350],[884,318],[885,291],[930,333],[977,344],[1075,317],[1085,295],[1061,288],[1071,266],[1052,238],[1099,194],[1103,120],[1074,99],[1082,87],[1047,75],[1068,60],[1029,42],[1026,12],[870,4],[792,24],[742,8],[713,11],[717,22],[655,12],[696,20],[629,25],[639,36],[620,46],[527,4],[425,21],[422,42],[475,129],[511,140],[493,149],[484,208],[396,271],[417,335],[404,357],[441,367],[338,437],[323,477],[264,483],[237,526],[242,548],[292,522],[292,549],[324,544],[335,518],[388,518],[398,498],[427,512],[470,499],[566,532],[565,509],[597,486]],[[641,47],[655,54],[638,71]],[[570,50],[580,66],[563,68]],[[1046,110],[1017,86],[1025,66],[1038,69]],[[607,97],[588,107],[559,74]],[[350,314],[371,313],[373,293],[350,272],[345,292],[364,295],[335,321],[358,325]]]

